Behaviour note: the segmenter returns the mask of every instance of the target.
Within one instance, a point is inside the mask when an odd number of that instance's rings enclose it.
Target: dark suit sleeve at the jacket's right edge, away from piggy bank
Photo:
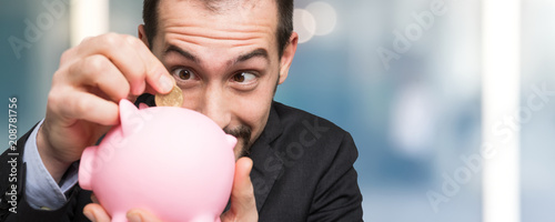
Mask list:
[[[362,221],[362,194],[353,164],[359,157],[356,145],[345,133],[326,173],[323,175],[307,221]]]

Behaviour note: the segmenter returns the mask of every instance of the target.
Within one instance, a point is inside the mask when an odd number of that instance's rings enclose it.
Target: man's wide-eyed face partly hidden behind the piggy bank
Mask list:
[[[294,38],[280,60],[274,0],[209,7],[201,0],[162,0],[158,18],[151,49],[182,89],[183,107],[235,135],[235,157],[244,154],[266,124],[274,90],[296,49]],[[139,36],[147,42],[142,28]]]

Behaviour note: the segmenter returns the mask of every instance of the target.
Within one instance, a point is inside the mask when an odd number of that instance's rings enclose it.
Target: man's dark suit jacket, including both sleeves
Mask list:
[[[82,209],[91,202],[90,191],[79,185],[58,210],[29,206],[21,160],[29,134],[19,139],[16,151],[8,149],[0,155],[0,221],[89,221]],[[17,152],[17,182],[11,183],[16,157],[10,153]],[[251,180],[260,221],[362,221],[362,195],[353,168],[356,147],[347,132],[327,120],[273,102],[249,157],[254,162]],[[17,185],[17,195],[7,194],[12,185]],[[8,201],[13,196],[17,213],[9,211]]]

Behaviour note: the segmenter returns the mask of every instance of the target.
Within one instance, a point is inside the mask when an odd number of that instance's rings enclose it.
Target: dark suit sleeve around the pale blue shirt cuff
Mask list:
[[[82,208],[90,199],[79,185],[70,191],[68,202],[60,209],[36,210],[29,205],[26,200],[23,151],[31,132],[0,155],[0,221],[88,221],[82,216]]]

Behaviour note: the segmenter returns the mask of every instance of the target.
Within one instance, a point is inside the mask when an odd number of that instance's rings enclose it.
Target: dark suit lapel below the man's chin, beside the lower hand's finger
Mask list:
[[[258,211],[264,205],[268,194],[270,194],[275,180],[283,170],[283,161],[278,154],[276,149],[271,145],[283,131],[274,104],[275,102],[272,103],[264,131],[254,142],[251,148],[251,153],[249,154],[253,161],[251,181],[254,186],[254,198],[256,199]]]

